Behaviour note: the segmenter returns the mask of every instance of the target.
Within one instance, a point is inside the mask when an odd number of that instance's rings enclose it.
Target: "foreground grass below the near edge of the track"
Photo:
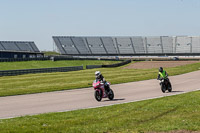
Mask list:
[[[4,132],[130,133],[200,131],[200,91],[63,113],[0,120]]]

